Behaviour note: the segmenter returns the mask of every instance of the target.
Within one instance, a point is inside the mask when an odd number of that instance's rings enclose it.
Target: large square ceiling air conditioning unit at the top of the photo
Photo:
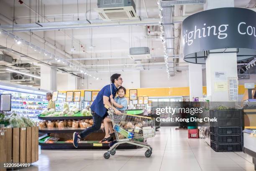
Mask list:
[[[138,20],[133,0],[98,0],[94,10],[103,20]]]

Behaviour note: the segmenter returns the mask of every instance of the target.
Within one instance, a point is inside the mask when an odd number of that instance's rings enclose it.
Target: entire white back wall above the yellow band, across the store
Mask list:
[[[114,74],[114,73],[111,73]],[[189,74],[188,70],[183,70],[181,73],[176,73],[174,77],[167,79],[165,70],[144,70],[133,72],[120,72],[123,77],[123,86],[126,88],[148,88],[148,87],[189,87]],[[92,77],[84,77],[83,86],[82,79],[77,81],[77,89],[101,89],[106,84],[110,83],[108,72],[100,73],[99,80],[95,80]],[[202,70],[203,86],[206,86],[206,74],[205,70]],[[68,86],[67,73],[57,74],[57,90],[68,90],[75,85],[75,82],[69,82]],[[132,83],[133,82],[133,83]],[[243,85],[245,82],[255,82],[256,74],[250,74],[250,79],[239,80],[239,85]]]

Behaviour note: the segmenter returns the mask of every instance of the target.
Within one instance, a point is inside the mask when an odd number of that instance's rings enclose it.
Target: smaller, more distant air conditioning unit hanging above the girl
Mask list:
[[[128,57],[134,60],[141,60],[150,59],[151,55],[148,47],[131,47]]]

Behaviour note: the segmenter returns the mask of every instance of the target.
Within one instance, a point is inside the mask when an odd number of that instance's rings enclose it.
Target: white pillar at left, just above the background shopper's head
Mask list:
[[[56,91],[56,74],[57,71],[54,68],[47,67],[45,65],[40,66],[41,71],[41,89],[46,89],[49,91]]]

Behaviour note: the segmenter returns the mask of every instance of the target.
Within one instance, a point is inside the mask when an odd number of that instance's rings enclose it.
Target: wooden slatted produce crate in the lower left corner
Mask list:
[[[5,130],[0,136],[0,163],[31,164],[38,161],[38,126]]]

